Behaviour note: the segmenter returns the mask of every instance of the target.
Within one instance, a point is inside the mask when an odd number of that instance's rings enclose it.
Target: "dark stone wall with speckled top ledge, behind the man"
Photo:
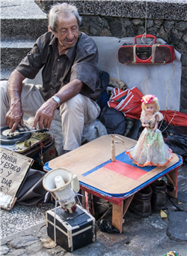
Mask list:
[[[46,13],[56,2],[70,2],[82,16],[80,30],[91,36],[135,37],[145,32],[164,39],[181,53],[180,111],[187,113],[187,2],[186,0],[34,0]],[[176,88],[177,89],[177,88]]]

